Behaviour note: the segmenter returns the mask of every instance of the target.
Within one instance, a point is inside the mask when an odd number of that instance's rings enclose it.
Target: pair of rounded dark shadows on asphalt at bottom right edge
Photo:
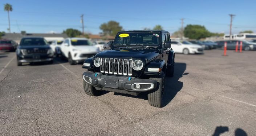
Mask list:
[[[215,128],[215,131],[212,134],[212,136],[220,136],[220,134],[228,132],[228,131],[229,131],[229,129],[227,126],[218,126]],[[235,136],[247,136],[247,133],[241,128],[236,128]]]

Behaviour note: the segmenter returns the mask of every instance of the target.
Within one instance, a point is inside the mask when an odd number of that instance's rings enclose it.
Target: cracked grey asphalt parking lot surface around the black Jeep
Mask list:
[[[175,56],[164,108],[139,96],[87,96],[82,65],[17,67],[0,53],[0,135],[256,135],[256,52]],[[221,126],[221,127],[220,127]]]

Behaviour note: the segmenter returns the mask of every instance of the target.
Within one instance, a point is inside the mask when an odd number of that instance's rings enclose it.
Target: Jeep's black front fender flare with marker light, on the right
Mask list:
[[[164,60],[153,60],[149,63],[147,63],[145,67],[144,74],[145,75],[160,75],[162,74],[162,70],[166,62]],[[156,70],[156,71],[149,71],[151,70]]]

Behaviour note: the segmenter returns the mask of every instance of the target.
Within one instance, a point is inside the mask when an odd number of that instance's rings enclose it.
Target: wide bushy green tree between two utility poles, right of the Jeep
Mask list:
[[[184,28],[184,36],[189,39],[201,39],[211,36],[211,33],[204,27],[200,25],[187,25]]]

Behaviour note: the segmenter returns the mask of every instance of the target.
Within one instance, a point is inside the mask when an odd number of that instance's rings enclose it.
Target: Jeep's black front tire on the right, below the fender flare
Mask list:
[[[161,75],[149,78],[157,81],[157,87],[154,90],[149,91],[147,98],[149,104],[154,107],[163,107],[163,94],[165,88],[165,74],[162,72]]]

